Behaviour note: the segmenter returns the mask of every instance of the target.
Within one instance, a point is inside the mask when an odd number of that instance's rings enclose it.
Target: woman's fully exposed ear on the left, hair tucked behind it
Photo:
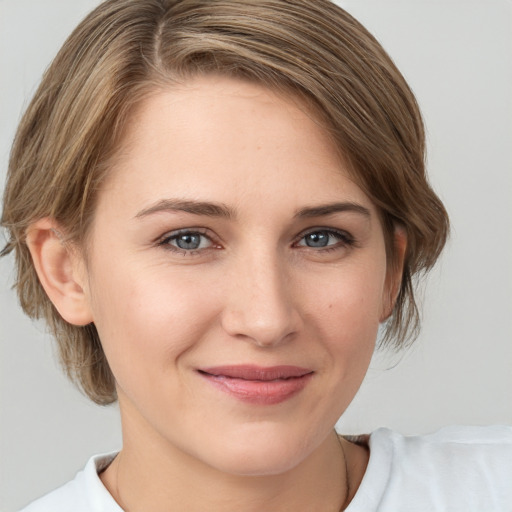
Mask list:
[[[87,325],[93,319],[84,291],[85,265],[61,233],[54,220],[40,219],[29,226],[27,245],[39,281],[62,318],[73,325]]]

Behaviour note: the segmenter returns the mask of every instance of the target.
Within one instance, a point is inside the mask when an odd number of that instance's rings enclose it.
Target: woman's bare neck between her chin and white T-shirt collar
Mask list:
[[[101,477],[126,512],[338,512],[353,494],[346,468],[333,431],[292,469],[263,476],[228,474],[175,448],[162,450],[149,442],[141,450],[125,439],[123,450]]]

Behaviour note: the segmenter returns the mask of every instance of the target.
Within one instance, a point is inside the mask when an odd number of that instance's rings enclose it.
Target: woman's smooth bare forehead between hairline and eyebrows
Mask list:
[[[155,91],[138,106],[103,195],[120,188],[139,204],[158,195],[328,202],[340,193],[369,202],[304,102],[216,76]]]

